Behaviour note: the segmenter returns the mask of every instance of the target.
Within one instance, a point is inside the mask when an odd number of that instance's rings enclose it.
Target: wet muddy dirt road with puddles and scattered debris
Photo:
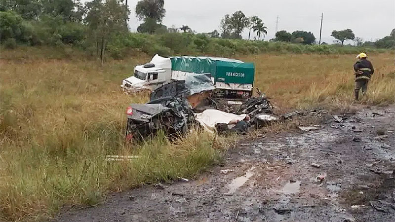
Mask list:
[[[116,193],[55,221],[395,221],[394,113],[363,108],[314,131],[245,141],[198,180]]]

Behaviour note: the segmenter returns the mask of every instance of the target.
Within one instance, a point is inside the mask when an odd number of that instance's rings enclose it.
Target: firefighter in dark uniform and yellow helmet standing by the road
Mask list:
[[[372,63],[367,60],[367,55],[365,53],[359,53],[356,56],[358,61],[354,64],[355,72],[355,100],[358,100],[359,90],[362,90],[362,95],[366,93],[367,84],[374,73]]]

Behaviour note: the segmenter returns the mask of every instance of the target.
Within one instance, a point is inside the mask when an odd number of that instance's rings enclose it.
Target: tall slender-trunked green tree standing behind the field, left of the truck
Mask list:
[[[125,14],[129,14],[123,0],[92,0],[85,4],[85,23],[92,31],[101,63],[104,63],[104,52],[107,42],[118,33],[127,32]]]

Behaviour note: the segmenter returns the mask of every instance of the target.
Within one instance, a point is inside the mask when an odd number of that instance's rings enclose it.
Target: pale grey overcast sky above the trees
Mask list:
[[[128,0],[132,32],[141,23],[134,13],[137,2]],[[221,18],[237,10],[248,17],[257,15],[268,27],[265,40],[274,37],[277,16],[278,31],[308,31],[318,40],[323,12],[321,41],[327,43],[333,43],[333,30],[350,28],[366,41],[389,36],[395,28],[395,0],[164,0],[164,8],[164,25],[188,25],[197,33],[218,30]],[[247,29],[243,37],[248,37]]]

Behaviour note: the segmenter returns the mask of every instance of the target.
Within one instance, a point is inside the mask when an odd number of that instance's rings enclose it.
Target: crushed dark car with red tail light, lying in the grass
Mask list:
[[[195,122],[188,102],[177,97],[163,97],[147,104],[130,104],[126,114],[127,142],[141,141],[159,130],[168,136],[185,134]]]

